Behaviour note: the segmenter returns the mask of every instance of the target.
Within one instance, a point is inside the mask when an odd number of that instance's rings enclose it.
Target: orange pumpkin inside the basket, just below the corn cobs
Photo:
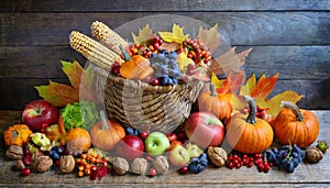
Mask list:
[[[134,55],[130,60],[121,64],[120,75],[128,79],[144,80],[152,76],[154,69],[151,67],[147,58],[142,55]]]

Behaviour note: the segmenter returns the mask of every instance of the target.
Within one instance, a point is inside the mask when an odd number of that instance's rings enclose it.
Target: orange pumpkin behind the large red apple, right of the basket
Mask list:
[[[210,85],[209,91],[204,91],[198,98],[198,108],[200,111],[209,111],[221,121],[231,118],[232,104],[224,95],[217,93],[215,85]]]

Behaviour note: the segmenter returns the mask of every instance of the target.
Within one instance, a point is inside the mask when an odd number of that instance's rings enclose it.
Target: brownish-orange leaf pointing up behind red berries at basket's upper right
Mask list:
[[[218,32],[218,24],[216,24],[210,30],[206,30],[200,26],[197,37],[209,48],[210,53],[215,52],[221,44]]]

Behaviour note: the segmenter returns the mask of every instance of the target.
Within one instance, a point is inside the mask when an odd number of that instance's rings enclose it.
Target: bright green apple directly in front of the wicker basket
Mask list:
[[[169,141],[164,133],[153,132],[144,140],[146,153],[151,156],[164,154],[169,148]]]

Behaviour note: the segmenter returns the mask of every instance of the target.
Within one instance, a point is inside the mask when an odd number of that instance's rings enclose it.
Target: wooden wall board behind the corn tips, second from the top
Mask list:
[[[209,25],[218,23],[219,32],[231,45],[330,44],[329,12],[167,13],[190,16]],[[0,13],[0,45],[67,45],[70,31],[89,34],[95,20],[116,29],[134,19],[158,13]],[[131,29],[127,34],[131,36]]]

